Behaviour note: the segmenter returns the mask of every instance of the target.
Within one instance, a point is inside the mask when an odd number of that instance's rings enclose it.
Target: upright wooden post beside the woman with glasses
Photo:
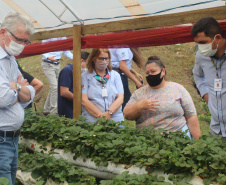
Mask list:
[[[81,25],[73,26],[73,118],[81,115]]]

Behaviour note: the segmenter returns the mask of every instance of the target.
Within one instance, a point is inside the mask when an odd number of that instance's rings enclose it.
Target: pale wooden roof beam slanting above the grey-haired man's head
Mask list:
[[[33,17],[31,17],[23,8],[21,8],[17,3],[13,0],[3,0],[9,7],[11,7],[15,12],[26,15],[31,19],[35,28],[43,28],[41,24],[38,23]],[[40,29],[39,31],[45,31],[45,29]]]

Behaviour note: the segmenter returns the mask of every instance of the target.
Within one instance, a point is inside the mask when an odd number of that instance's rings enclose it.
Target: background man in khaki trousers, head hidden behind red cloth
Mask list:
[[[45,43],[64,39],[66,39],[66,37],[51,38],[43,40],[42,42]],[[42,57],[42,71],[49,82],[50,88],[44,105],[44,115],[57,113],[57,84],[60,73],[60,59],[63,53],[66,57],[70,58],[71,60],[73,59],[73,54],[70,51],[49,52],[43,54]]]

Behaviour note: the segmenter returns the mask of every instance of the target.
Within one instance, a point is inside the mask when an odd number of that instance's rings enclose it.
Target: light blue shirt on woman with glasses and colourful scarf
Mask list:
[[[86,71],[82,73],[82,94],[88,95],[91,101],[101,112],[106,112],[111,104],[116,100],[117,95],[124,93],[122,80],[118,72],[112,70],[109,72],[109,80],[105,84],[107,89],[107,97],[102,97],[102,84],[95,78],[96,72],[89,73]],[[82,115],[88,119],[89,122],[95,122],[94,116],[90,115],[84,107],[82,107]],[[124,120],[122,107],[115,112],[112,117],[114,121],[120,122]]]

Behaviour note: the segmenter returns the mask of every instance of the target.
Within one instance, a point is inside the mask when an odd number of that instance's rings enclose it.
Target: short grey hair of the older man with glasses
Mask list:
[[[1,28],[16,33],[19,25],[22,25],[28,34],[32,35],[34,33],[34,25],[31,20],[27,16],[19,13],[9,13],[3,20]]]

